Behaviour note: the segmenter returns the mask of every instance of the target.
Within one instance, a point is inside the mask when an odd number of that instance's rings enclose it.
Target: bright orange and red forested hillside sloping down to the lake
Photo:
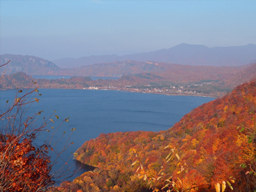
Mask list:
[[[145,192],[165,186],[163,191],[252,192],[255,155],[256,79],[197,107],[166,131],[117,132],[86,141],[74,156],[96,169],[58,190]]]

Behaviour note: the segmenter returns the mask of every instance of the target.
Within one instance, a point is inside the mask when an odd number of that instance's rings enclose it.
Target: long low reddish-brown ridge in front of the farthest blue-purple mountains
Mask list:
[[[241,71],[242,66],[192,66],[182,64],[166,64],[160,62],[112,62],[92,64],[77,68],[60,69],[55,75],[67,76],[96,76],[96,77],[122,77],[140,73],[152,73],[171,81],[187,81],[193,79],[219,79],[222,76],[232,76]]]

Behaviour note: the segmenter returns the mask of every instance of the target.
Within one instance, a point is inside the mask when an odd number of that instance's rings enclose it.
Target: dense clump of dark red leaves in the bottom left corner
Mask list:
[[[53,184],[47,145],[33,145],[33,135],[26,138],[0,135],[0,183],[3,191],[36,192]]]

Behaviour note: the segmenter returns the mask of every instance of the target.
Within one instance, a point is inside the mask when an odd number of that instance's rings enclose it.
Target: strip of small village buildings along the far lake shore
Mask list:
[[[115,86],[104,86],[104,87],[86,87],[83,89],[88,90],[115,90],[115,91],[128,91],[128,92],[136,92],[136,93],[147,93],[147,94],[163,94],[163,95],[179,95],[179,96],[210,96],[210,97],[216,97],[220,96],[218,93],[212,93],[212,94],[203,94],[203,93],[197,93],[196,91],[185,91],[183,87],[181,86],[180,89],[175,89],[175,87],[170,87],[172,89],[166,89],[166,88],[132,88],[131,86],[125,86],[125,87],[115,87]]]

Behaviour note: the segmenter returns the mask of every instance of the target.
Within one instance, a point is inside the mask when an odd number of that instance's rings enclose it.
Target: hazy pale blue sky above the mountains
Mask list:
[[[255,0],[0,0],[0,53],[55,60],[256,44],[255,10]]]

